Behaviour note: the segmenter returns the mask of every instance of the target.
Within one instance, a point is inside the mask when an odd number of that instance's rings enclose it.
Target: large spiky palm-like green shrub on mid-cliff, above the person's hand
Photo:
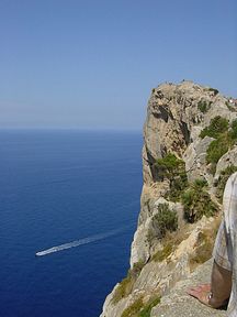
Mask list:
[[[212,201],[205,188],[195,183],[182,195],[182,204],[188,222],[195,222],[204,215],[212,217],[218,211],[217,205]]]

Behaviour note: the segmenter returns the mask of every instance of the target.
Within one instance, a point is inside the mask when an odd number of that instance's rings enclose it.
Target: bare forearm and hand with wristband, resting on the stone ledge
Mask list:
[[[199,299],[204,305],[213,308],[224,306],[232,292],[232,272],[219,266],[215,261],[212,269],[211,284],[192,287],[188,294]],[[210,296],[212,294],[212,296]]]

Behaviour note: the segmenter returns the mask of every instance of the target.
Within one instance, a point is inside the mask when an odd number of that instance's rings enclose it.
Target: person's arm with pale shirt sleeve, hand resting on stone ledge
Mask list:
[[[233,199],[233,197],[237,197],[236,178],[237,173],[230,175],[224,190],[224,219],[215,240],[213,251],[213,258],[215,260],[213,263],[211,284],[200,285],[188,292],[191,296],[213,308],[225,305],[232,293],[233,241],[228,233],[230,223],[235,223],[233,210],[236,211],[236,200]]]

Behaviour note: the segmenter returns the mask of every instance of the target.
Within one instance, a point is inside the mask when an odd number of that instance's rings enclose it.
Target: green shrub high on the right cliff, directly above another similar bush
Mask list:
[[[217,139],[219,134],[226,132],[228,129],[228,120],[217,116],[211,120],[208,127],[204,128],[200,133],[200,138],[211,136]]]

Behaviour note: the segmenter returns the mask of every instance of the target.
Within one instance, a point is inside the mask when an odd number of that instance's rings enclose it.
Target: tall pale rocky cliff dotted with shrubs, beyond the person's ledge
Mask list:
[[[223,184],[237,165],[236,106],[191,81],[153,89],[131,271],[108,296],[101,317],[159,316],[160,297],[210,258]]]

